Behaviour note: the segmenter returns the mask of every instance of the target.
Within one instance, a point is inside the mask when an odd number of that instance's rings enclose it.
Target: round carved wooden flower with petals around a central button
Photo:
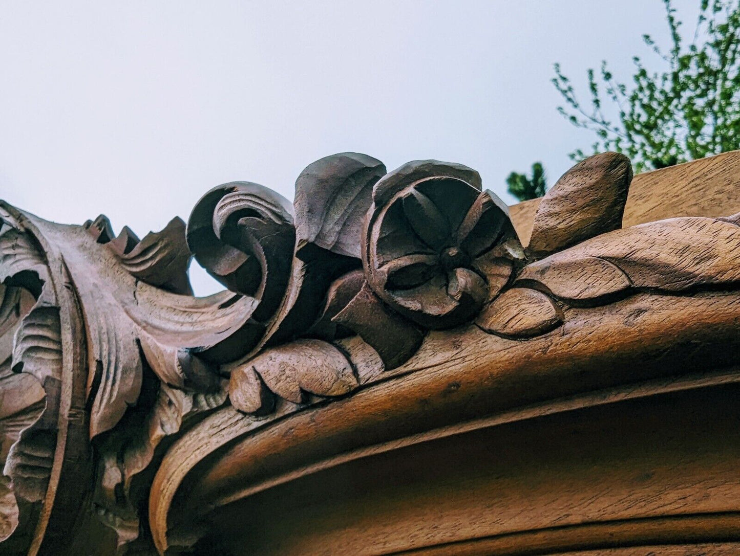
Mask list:
[[[363,263],[373,291],[425,328],[473,318],[522,248],[505,204],[467,166],[421,160],[374,189]]]

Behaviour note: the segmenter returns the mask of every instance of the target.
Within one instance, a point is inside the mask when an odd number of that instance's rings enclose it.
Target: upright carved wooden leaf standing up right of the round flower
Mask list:
[[[542,257],[622,226],[631,181],[625,155],[605,152],[577,163],[542,197],[528,251]]]

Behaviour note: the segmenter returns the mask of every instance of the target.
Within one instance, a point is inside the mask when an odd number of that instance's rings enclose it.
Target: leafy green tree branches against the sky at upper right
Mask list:
[[[667,69],[649,70],[635,56],[629,87],[616,80],[606,61],[598,76],[588,69],[591,106],[576,98],[571,80],[555,64],[552,82],[569,106],[558,111],[596,133],[594,152],[623,152],[641,172],[740,149],[740,0],[700,1],[690,43],[680,33],[671,0],[663,0],[668,50],[650,35],[642,37]],[[570,156],[586,155],[578,149]]]

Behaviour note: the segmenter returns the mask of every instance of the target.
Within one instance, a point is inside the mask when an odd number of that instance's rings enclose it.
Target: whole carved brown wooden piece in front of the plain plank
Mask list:
[[[0,554],[734,554],[740,213],[622,227],[631,179],[526,248],[467,166],[357,153],[142,240],[2,203]]]

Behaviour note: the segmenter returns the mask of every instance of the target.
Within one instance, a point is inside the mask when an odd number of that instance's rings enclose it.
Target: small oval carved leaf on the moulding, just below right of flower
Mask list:
[[[512,288],[483,309],[475,323],[499,336],[531,338],[561,325],[562,311],[539,291]]]

